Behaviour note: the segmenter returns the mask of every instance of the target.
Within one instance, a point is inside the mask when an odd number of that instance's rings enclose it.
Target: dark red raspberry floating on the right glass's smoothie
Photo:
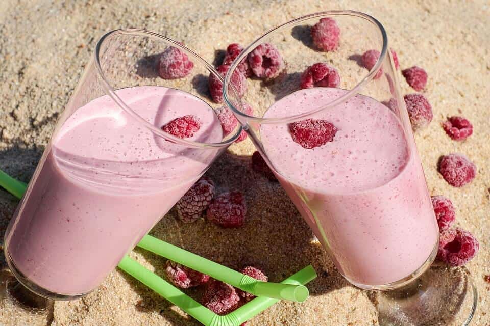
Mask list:
[[[293,141],[311,149],[332,142],[337,128],[326,120],[306,119],[290,123],[289,132]]]

